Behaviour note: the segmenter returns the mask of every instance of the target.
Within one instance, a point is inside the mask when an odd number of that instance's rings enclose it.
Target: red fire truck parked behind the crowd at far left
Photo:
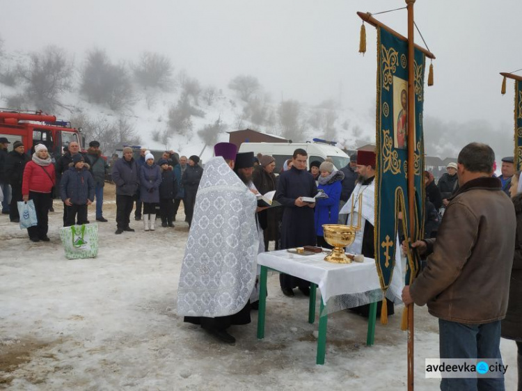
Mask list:
[[[22,141],[26,152],[37,144],[45,144],[55,157],[61,156],[63,147],[71,141],[85,147],[85,136],[81,129],[71,127],[70,122],[57,121],[54,115],[42,111],[19,111],[0,109],[0,137],[6,137],[13,145]]]

